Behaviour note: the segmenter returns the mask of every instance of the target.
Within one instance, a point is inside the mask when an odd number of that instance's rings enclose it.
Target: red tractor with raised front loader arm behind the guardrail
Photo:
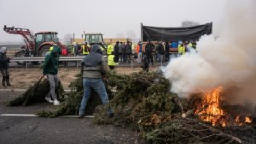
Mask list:
[[[23,36],[26,45],[21,47],[21,50],[15,54],[15,57],[44,57],[53,44],[57,44],[61,47],[62,55],[68,55],[67,47],[59,42],[57,32],[44,31],[33,35],[29,29],[6,27],[4,31],[9,34],[19,34]],[[25,61],[17,62],[18,65],[25,65]],[[38,62],[33,62],[36,64]]]

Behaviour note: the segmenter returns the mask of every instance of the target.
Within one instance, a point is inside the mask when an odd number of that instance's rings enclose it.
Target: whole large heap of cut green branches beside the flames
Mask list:
[[[170,92],[170,82],[159,73],[121,75],[108,73],[107,86],[114,91],[110,107],[115,117],[109,119],[105,109],[97,111],[94,122],[115,124],[140,131],[148,143],[249,143],[256,141],[250,126],[226,128],[205,123],[194,114],[201,94],[190,99]],[[234,136],[232,134],[236,133]],[[241,133],[238,135],[238,133]],[[245,134],[246,133],[246,134]],[[245,134],[245,135],[243,135]],[[251,140],[247,138],[251,137]]]

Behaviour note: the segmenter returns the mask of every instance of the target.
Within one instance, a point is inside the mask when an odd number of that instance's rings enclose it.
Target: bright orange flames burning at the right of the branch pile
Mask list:
[[[217,123],[221,124],[222,127],[226,127],[227,125],[227,114],[220,107],[220,102],[223,100],[223,96],[221,95],[222,87],[218,87],[217,89],[210,90],[205,93],[204,100],[197,107],[196,114],[205,121],[211,122],[213,126]],[[229,122],[230,123],[230,122]],[[241,118],[241,116],[237,116],[234,120],[235,124],[244,125],[252,123],[252,119],[249,117]]]

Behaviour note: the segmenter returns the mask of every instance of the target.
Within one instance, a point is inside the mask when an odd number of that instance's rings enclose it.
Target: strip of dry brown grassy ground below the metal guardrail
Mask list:
[[[155,71],[158,67],[151,67],[150,71]],[[130,74],[133,72],[139,72],[142,68],[130,68],[130,67],[117,67],[115,68],[117,73],[121,74]],[[12,84],[13,89],[27,89],[31,84],[34,84],[38,81],[39,77],[42,74],[42,70],[39,68],[10,68],[10,83]],[[75,79],[75,75],[79,73],[79,69],[76,68],[59,68],[58,76],[61,80],[64,89],[68,89],[68,85],[73,79]],[[2,79],[2,77],[1,77]],[[4,87],[0,87],[0,89],[4,89]],[[10,89],[7,87],[7,89]]]

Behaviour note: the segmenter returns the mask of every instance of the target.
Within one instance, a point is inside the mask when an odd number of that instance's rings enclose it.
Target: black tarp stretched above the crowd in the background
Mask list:
[[[204,34],[212,33],[212,22],[193,27],[152,27],[141,23],[141,40],[147,41],[189,41],[198,40]]]

